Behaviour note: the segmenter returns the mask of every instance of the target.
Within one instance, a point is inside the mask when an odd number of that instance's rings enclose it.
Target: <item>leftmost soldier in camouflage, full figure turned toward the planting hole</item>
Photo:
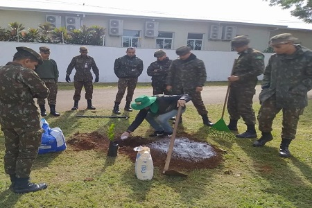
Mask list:
[[[17,47],[13,61],[0,67],[0,124],[6,146],[4,169],[10,175],[10,189],[27,193],[46,189],[44,183],[29,181],[38,154],[42,128],[34,98],[46,98],[49,89],[34,69],[41,56],[27,47]]]

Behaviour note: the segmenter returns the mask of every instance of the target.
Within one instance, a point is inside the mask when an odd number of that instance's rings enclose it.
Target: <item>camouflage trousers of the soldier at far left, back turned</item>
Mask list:
[[[35,128],[3,128],[6,152],[4,169],[10,175],[29,177],[37,157],[42,130]]]

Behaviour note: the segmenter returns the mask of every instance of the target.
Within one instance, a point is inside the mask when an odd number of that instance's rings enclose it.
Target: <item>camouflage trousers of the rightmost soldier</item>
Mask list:
[[[304,108],[277,107],[275,96],[271,96],[261,104],[258,115],[259,130],[261,132],[271,132],[273,120],[281,110],[283,112],[281,138],[295,139],[299,116],[303,114]]]

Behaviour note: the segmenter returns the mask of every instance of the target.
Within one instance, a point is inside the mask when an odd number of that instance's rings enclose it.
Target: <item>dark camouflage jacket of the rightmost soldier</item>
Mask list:
[[[302,108],[308,105],[312,89],[312,51],[295,45],[292,55],[273,54],[262,80],[261,102],[275,94],[277,107]]]

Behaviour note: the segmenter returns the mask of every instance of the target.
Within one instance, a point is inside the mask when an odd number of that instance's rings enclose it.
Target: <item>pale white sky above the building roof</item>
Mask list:
[[[2,2],[19,1],[26,7],[40,3],[53,3],[55,9],[73,10],[89,7],[99,10],[116,10],[125,14],[140,15],[141,12],[152,17],[168,16],[187,19],[211,19],[220,21],[240,21],[256,24],[286,25],[290,28],[311,29],[312,24],[305,24],[302,20],[291,16],[290,10],[282,10],[279,6],[270,7],[268,1],[263,0],[1,0]],[[53,8],[49,7],[49,8]]]

